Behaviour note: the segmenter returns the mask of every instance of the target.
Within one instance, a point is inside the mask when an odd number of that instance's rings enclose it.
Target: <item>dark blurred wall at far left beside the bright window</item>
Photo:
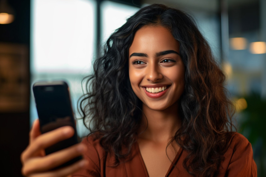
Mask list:
[[[30,34],[30,0],[8,0],[8,4],[14,8],[15,20],[10,24],[0,24],[0,43],[4,47],[23,46],[26,53],[26,59],[20,63],[25,69],[25,75],[17,82],[23,82],[23,85],[29,85],[29,34]],[[3,47],[2,47],[3,48]],[[16,48],[9,48],[16,53]],[[3,66],[3,55],[0,53],[0,66]],[[16,58],[16,57],[15,57]],[[16,66],[20,69],[19,66]],[[7,69],[7,68],[5,68]],[[2,69],[3,70],[3,69]],[[10,68],[12,70],[12,67]],[[10,71],[11,72],[11,71]],[[1,73],[1,71],[0,71]],[[2,77],[0,74],[0,88],[8,85],[12,77]],[[15,85],[15,84],[14,84]],[[20,90],[22,88],[16,88]],[[15,88],[13,88],[15,89]],[[24,98],[29,98],[29,89],[25,89]],[[3,92],[3,90],[2,90]],[[10,93],[7,91],[7,93]],[[1,94],[0,94],[1,95]],[[7,94],[2,95],[2,99]],[[9,95],[10,97],[12,95]],[[0,98],[1,99],[1,98]],[[11,98],[12,99],[12,98]],[[0,110],[1,128],[0,128],[0,153],[1,153],[1,171],[0,176],[19,177],[21,175],[20,154],[28,144],[29,132],[29,99],[23,99],[23,109],[18,106],[9,106],[8,109]]]

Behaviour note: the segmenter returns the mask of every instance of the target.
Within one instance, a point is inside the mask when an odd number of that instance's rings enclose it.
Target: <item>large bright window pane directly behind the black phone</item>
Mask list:
[[[32,0],[31,3],[31,82],[66,80],[76,110],[82,95],[81,80],[89,73],[93,58],[95,2]],[[33,96],[30,113],[32,124],[38,118]]]

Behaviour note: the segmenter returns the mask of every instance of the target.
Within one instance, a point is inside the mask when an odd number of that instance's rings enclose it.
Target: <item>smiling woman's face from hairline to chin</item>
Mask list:
[[[129,78],[137,97],[153,110],[177,103],[185,86],[179,43],[162,26],[140,28],[129,48]]]

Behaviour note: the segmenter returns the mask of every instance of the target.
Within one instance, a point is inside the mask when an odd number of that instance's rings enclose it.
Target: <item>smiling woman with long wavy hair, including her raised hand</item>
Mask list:
[[[80,106],[91,133],[44,156],[73,135],[40,135],[36,121],[22,154],[26,176],[256,176],[252,148],[232,132],[225,76],[187,14],[140,9],[107,40]],[[49,171],[69,159],[84,160]],[[78,170],[78,171],[77,171]]]

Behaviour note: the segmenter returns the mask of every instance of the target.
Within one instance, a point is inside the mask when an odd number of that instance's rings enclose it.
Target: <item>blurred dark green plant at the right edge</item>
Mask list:
[[[266,176],[266,99],[256,93],[245,99],[248,106],[239,120],[239,132],[252,144],[258,177],[262,177]]]

